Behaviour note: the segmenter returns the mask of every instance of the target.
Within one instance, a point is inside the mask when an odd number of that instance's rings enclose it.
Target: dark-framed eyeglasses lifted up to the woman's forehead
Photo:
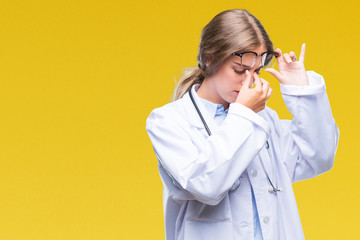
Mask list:
[[[261,54],[251,51],[242,52],[242,53],[235,52],[232,53],[231,55],[240,57],[240,65],[244,69],[252,68],[256,64],[258,56],[261,57],[261,62],[259,67],[263,67],[263,68],[273,67],[275,65],[276,58],[279,56],[279,54],[273,51],[263,52]]]

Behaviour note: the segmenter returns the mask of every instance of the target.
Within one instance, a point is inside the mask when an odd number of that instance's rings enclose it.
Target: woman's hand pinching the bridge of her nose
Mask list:
[[[272,89],[270,84],[264,79],[259,78],[256,73],[254,73],[254,79],[255,87],[252,88],[252,77],[250,72],[246,70],[246,78],[235,102],[250,108],[254,112],[259,112],[265,108],[266,101],[272,94]]]

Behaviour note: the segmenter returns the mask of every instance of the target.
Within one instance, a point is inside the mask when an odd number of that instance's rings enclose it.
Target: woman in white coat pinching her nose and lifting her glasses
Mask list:
[[[273,50],[246,10],[202,31],[198,67],[146,129],[164,184],[166,239],[304,239],[292,183],[333,166],[338,128],[323,78],[294,52]],[[277,60],[278,69],[267,68]],[[293,120],[266,107],[273,74]]]

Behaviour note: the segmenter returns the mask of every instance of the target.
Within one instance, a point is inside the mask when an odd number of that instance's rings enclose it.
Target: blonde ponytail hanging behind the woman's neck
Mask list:
[[[179,80],[173,93],[173,101],[182,98],[187,93],[191,86],[197,83],[202,83],[204,80],[204,72],[198,67],[188,68],[184,76]]]

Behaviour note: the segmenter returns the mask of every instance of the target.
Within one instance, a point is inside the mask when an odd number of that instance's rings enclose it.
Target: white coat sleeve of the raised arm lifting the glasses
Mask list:
[[[308,86],[280,85],[293,116],[291,121],[279,120],[277,124],[282,162],[292,182],[329,171],[339,140],[324,79],[312,71],[307,74]]]

